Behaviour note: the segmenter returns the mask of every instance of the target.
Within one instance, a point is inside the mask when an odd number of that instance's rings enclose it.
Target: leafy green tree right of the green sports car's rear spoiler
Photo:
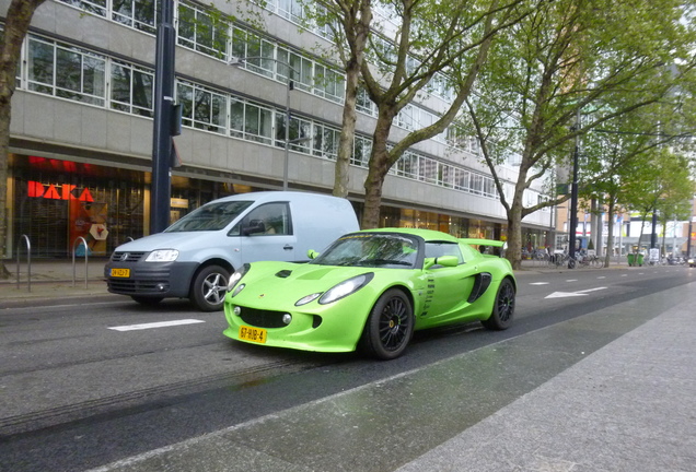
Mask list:
[[[520,268],[522,219],[568,196],[524,206],[552,169],[568,167],[577,139],[660,101],[694,67],[694,28],[678,0],[557,0],[507,30],[467,101],[508,216],[507,257]],[[580,117],[580,119],[578,119]],[[519,174],[508,193],[497,173],[511,153]],[[571,228],[573,231],[573,228]]]

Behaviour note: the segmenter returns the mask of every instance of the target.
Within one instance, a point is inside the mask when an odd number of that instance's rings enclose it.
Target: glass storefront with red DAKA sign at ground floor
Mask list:
[[[10,240],[30,239],[32,257],[108,256],[149,234],[150,173],[11,155]],[[250,188],[172,178],[171,221]],[[10,245],[13,247],[13,245]],[[22,248],[24,250],[24,248]]]

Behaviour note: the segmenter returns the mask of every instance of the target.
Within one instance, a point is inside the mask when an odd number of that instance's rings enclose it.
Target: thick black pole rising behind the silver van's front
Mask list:
[[[150,196],[150,234],[170,225],[172,198],[172,111],[174,106],[174,31],[173,0],[162,0],[158,25],[154,73],[154,125],[152,132],[152,194]]]

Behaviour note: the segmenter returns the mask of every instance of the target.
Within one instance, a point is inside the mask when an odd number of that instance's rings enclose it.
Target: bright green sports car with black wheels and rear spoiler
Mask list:
[[[475,248],[478,246],[478,248]],[[347,234],[310,262],[254,262],[230,279],[229,338],[304,351],[399,356],[414,330],[479,320],[502,330],[517,282],[501,241],[429,229]]]

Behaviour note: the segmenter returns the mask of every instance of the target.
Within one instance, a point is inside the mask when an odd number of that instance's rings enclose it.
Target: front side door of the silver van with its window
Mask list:
[[[253,231],[245,231],[253,228]],[[253,209],[233,229],[239,234],[244,262],[295,260],[297,236],[287,202],[265,203]]]

